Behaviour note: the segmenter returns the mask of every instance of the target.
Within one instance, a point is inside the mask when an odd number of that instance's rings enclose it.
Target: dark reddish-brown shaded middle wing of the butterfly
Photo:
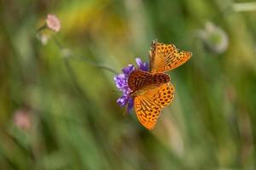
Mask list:
[[[170,77],[163,73],[150,73],[147,71],[132,71],[128,77],[128,86],[132,91],[145,88],[157,88],[170,81]]]

